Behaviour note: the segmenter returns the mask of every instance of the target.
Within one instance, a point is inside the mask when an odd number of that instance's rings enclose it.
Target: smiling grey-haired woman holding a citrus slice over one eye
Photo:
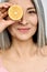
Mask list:
[[[7,14],[12,4],[23,8],[23,18],[17,22]],[[43,48],[45,19],[40,0],[9,0],[0,3],[0,70],[3,70],[2,72],[4,70],[8,72],[47,71],[47,56],[44,58],[47,55],[47,49]]]

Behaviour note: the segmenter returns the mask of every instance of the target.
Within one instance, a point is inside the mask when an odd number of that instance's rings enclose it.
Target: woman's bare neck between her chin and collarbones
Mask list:
[[[21,41],[14,38],[12,39],[12,49],[14,49],[19,55],[28,55],[30,53],[32,54],[34,51],[36,51],[33,39],[28,39],[26,41]]]

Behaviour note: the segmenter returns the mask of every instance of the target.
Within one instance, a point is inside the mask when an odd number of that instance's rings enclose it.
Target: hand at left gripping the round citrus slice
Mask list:
[[[0,33],[8,28],[9,25],[13,24],[14,21],[13,20],[5,20],[4,18],[8,16],[8,9],[9,7],[11,7],[12,3],[9,2],[3,2],[0,3]]]

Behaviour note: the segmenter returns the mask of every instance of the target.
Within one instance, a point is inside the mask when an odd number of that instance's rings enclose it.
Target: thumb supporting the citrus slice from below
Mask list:
[[[4,20],[0,20],[0,33],[5,29],[8,28],[9,25],[13,24],[14,21],[4,21]]]

